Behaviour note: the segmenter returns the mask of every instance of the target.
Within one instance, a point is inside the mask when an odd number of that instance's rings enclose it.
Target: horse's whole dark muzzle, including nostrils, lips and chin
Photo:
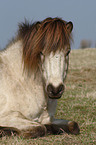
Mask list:
[[[54,87],[52,84],[49,84],[47,86],[47,94],[51,99],[59,99],[61,98],[64,89],[65,87],[63,84],[60,84],[58,87]]]

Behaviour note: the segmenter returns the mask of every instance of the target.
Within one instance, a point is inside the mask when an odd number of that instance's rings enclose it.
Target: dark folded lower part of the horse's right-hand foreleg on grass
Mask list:
[[[66,132],[77,135],[80,132],[78,123],[74,121],[54,119],[52,124],[45,126],[47,128],[47,131],[53,134],[60,134]]]

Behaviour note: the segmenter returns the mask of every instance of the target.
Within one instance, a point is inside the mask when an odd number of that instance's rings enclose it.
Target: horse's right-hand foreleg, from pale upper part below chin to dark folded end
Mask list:
[[[48,111],[49,114],[54,116],[56,110],[57,100],[49,99],[48,102]],[[54,117],[53,117],[54,118]],[[76,122],[68,121],[63,119],[53,119],[50,125],[45,125],[47,131],[53,134],[59,134],[63,132],[72,133],[72,134],[79,134],[80,129]]]

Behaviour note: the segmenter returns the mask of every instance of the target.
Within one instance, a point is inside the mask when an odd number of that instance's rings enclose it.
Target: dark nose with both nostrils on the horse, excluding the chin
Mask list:
[[[58,87],[54,87],[52,84],[47,86],[47,92],[49,96],[60,96],[64,91],[64,85],[60,84]]]

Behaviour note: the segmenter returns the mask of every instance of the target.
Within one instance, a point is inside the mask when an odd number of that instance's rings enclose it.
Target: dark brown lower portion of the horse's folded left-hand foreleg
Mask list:
[[[0,137],[18,135],[24,138],[36,138],[46,134],[46,127],[43,125],[28,126],[27,128],[17,129],[14,127],[0,126]]]

